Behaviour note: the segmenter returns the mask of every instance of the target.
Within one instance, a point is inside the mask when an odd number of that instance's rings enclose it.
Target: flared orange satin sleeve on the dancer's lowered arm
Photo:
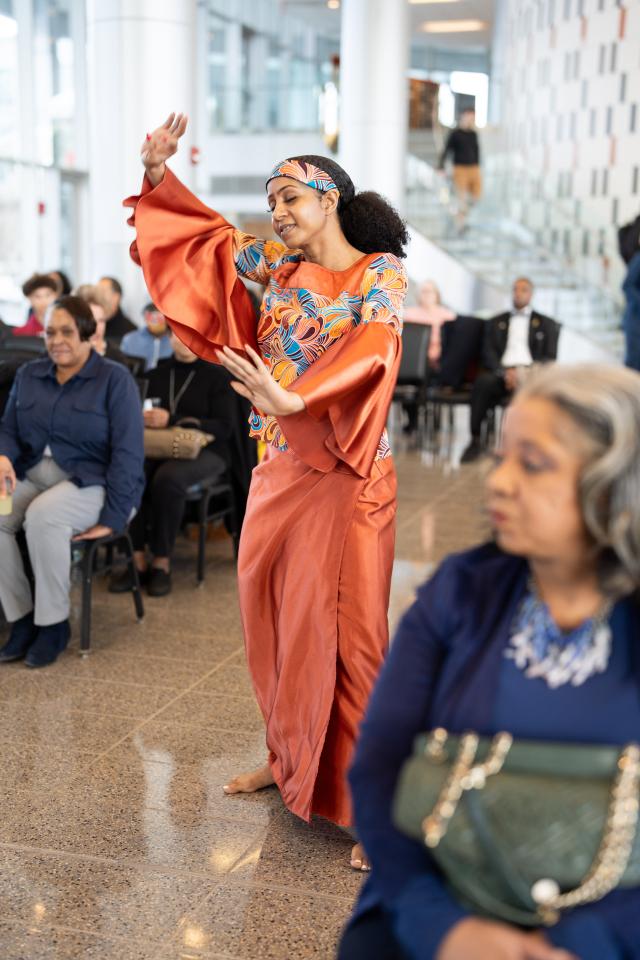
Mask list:
[[[278,422],[293,452],[323,473],[342,461],[368,477],[398,376],[400,336],[363,324],[342,337],[289,388],[306,409]]]

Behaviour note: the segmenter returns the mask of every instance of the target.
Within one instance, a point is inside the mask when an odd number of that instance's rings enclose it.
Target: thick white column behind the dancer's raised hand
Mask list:
[[[195,25],[196,0],[87,0],[92,275],[117,277],[134,316],[145,289],[122,201],[140,188],[145,133],[172,111],[195,119]],[[187,185],[194,140],[191,126],[171,161]]]

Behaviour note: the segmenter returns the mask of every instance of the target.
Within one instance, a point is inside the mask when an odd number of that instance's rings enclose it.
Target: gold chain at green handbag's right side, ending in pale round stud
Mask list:
[[[632,743],[620,754],[602,840],[583,882],[567,893],[560,893],[555,880],[538,880],[531,888],[543,923],[557,923],[560,910],[600,900],[618,886],[629,864],[638,829],[639,791],[640,747]]]

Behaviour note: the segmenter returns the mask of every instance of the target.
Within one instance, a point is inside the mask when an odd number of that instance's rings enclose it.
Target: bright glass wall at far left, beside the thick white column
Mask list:
[[[83,0],[0,0],[0,317],[10,323],[22,322],[32,273],[83,279],[84,16]]]

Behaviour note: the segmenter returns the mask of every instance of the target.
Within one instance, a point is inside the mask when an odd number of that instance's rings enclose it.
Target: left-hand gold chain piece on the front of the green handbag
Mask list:
[[[447,738],[447,731],[438,727],[427,741],[426,753],[434,760],[444,759]],[[480,738],[475,733],[466,733],[460,738],[458,754],[436,805],[422,821],[424,842],[428,847],[434,849],[445,836],[462,794],[466,790],[484,789],[488,777],[500,773],[512,743],[513,737],[510,733],[498,733],[493,738],[486,760],[483,763],[474,763]]]

